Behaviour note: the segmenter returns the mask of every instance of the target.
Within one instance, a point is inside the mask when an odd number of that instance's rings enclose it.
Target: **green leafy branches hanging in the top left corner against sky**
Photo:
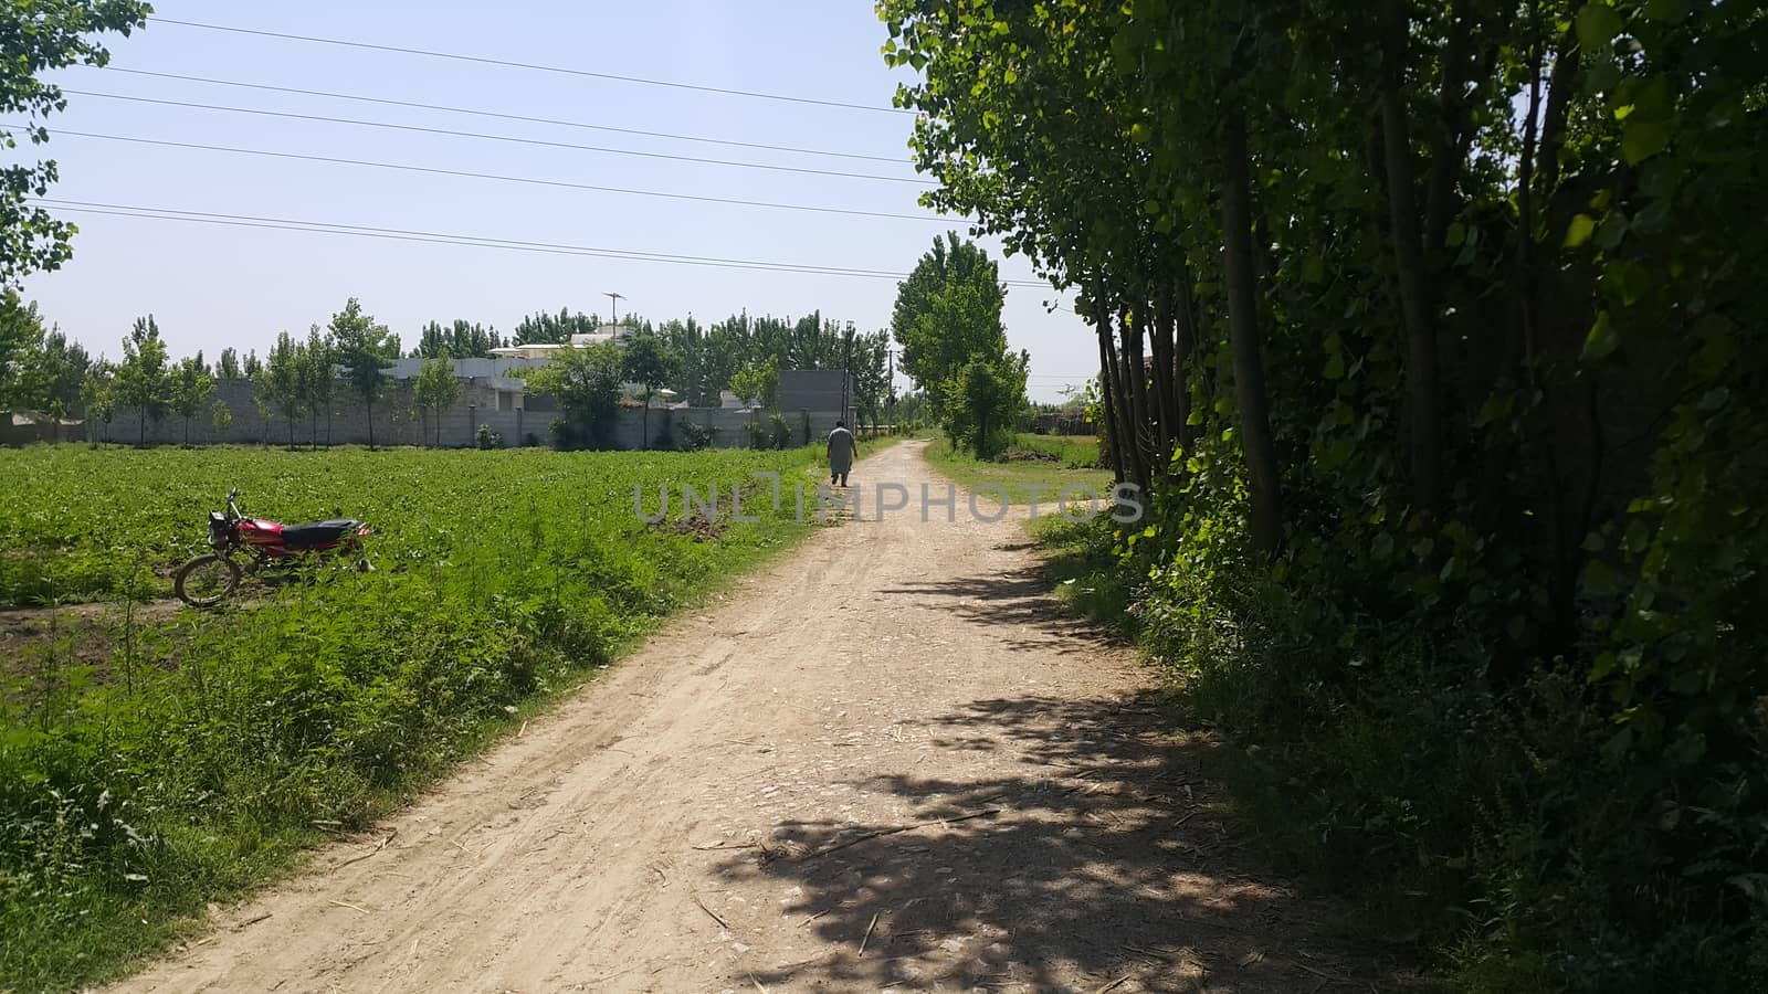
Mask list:
[[[97,42],[104,32],[127,35],[147,27],[152,7],[134,0],[7,0],[0,27],[0,110],[27,120],[32,145],[50,140],[39,122],[67,108],[62,88],[41,76],[67,65],[104,65],[110,53]],[[11,127],[0,141],[16,147]],[[39,269],[60,269],[72,256],[76,228],[32,203],[58,179],[53,161],[0,166],[0,287],[16,287]],[[0,345],[0,368],[5,366]]]

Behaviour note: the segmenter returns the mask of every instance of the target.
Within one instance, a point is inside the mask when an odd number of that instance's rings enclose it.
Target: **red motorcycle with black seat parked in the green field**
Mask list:
[[[239,513],[239,490],[228,490],[226,513],[209,511],[209,547],[214,552],[198,555],[173,575],[179,600],[191,607],[214,607],[239,589],[242,573],[256,573],[267,564],[286,564],[311,554],[345,552],[357,555],[357,568],[370,570],[361,559],[368,525],[355,518],[334,518],[311,525],[281,525]],[[244,568],[235,555],[246,559]]]

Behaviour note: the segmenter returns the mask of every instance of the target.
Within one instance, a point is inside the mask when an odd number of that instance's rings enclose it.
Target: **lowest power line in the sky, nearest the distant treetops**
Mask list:
[[[640,249],[610,249],[594,246],[573,246],[562,242],[539,242],[525,239],[495,239],[490,235],[458,235],[446,232],[423,232],[410,228],[385,228],[375,225],[347,225],[338,221],[308,221],[295,218],[263,218],[253,214],[225,214],[214,210],[180,210],[171,207],[141,207],[131,203],[95,203],[88,200],[32,198],[32,203],[55,207],[74,214],[106,214],[117,218],[140,218],[147,221],[187,221],[200,225],[225,225],[235,228],[263,228],[276,232],[311,232],[322,235],[354,235],[385,241],[410,241],[431,244],[458,244],[467,248],[499,248],[511,251],[534,251],[545,255],[576,255],[594,258],[617,258],[626,262],[668,262],[679,265],[705,265],[714,269],[757,269],[766,272],[801,272],[810,276],[857,276],[870,279],[905,279],[905,272],[882,269],[863,269],[849,265],[815,265],[799,262],[769,262],[755,258],[723,258],[677,253],[654,253]],[[1011,281],[1010,285],[1036,285],[1029,281]]]

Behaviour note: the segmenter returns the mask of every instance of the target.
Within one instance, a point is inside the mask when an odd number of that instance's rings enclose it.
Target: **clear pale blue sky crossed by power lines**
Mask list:
[[[569,65],[709,87],[889,106],[903,76],[879,57],[882,25],[865,0],[767,4],[656,0],[492,7],[483,2],[299,5],[164,0],[157,14],[232,27]],[[113,65],[278,87],[348,92],[675,134],[870,156],[870,163],[502,122],[354,101],[240,90],[104,69],[69,69],[74,90],[355,117],[580,145],[914,177],[912,119],[523,69],[375,53],[150,23],[111,41]],[[131,104],[71,96],[51,127],[449,170],[925,214],[903,182],[776,173],[698,163],[394,133],[331,122]],[[647,196],[433,177],[193,149],[53,136],[53,198],[560,242],[697,256],[907,272],[948,225],[688,203]],[[37,149],[41,152],[42,149]],[[94,354],[117,356],[136,315],[152,311],[175,356],[223,347],[265,352],[281,329],[324,324],[347,297],[410,345],[428,320],[469,318],[509,331],[562,306],[606,317],[716,320],[737,310],[886,327],[889,279],[753,272],[656,262],[555,256],[64,212],[81,228],[74,260],[27,281],[44,315]],[[962,223],[949,225],[962,232]],[[999,258],[999,244],[985,242]],[[1004,279],[1034,279],[1024,260]],[[1033,356],[1033,396],[1052,400],[1096,370],[1096,345],[1048,288],[1008,292],[1008,338]],[[1071,299],[1063,301],[1071,306]]]

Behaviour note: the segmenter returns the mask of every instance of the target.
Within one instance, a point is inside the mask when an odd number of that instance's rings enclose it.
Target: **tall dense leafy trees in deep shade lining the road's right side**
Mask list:
[[[1388,796],[1393,849],[1467,847],[1480,943],[1552,964],[1522,987],[1738,980],[1768,950],[1761,5],[879,9],[886,58],[923,73],[900,104],[926,205],[1082,295],[1116,470],[1162,513],[1155,591],[1192,570],[1146,617],[1183,626],[1250,575],[1301,628],[1340,619],[1342,653],[1238,684],[1338,722],[1464,688],[1510,727],[1575,667],[1579,716],[1528,748],[1579,775],[1475,801],[1542,821],[1475,824],[1420,776]],[[1418,653],[1434,677],[1407,683]],[[1331,734],[1294,707],[1250,734]],[[1386,745],[1384,776],[1430,753]]]

